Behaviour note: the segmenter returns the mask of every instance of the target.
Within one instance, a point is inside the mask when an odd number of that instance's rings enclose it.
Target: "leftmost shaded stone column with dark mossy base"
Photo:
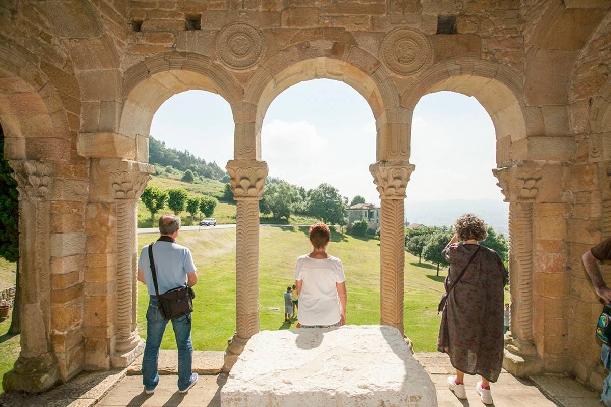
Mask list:
[[[21,351],[2,384],[5,391],[42,392],[59,378],[49,337],[48,192],[53,168],[39,160],[16,161],[11,166],[19,191]]]

